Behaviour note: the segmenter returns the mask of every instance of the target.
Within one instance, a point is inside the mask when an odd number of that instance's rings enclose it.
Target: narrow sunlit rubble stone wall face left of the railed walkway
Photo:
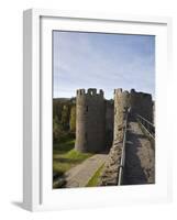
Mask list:
[[[104,170],[101,176],[101,186],[117,185],[119,177],[119,166],[123,147],[123,131],[125,117],[130,106],[130,94],[122,89],[114,90],[114,136]]]

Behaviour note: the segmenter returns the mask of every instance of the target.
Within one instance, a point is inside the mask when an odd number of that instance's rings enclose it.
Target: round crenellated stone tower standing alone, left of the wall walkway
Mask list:
[[[101,152],[106,148],[106,101],[103,91],[77,90],[76,143],[79,152]]]

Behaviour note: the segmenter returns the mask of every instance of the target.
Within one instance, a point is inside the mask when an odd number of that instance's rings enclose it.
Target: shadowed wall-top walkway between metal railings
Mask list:
[[[124,185],[155,183],[155,152],[139,123],[128,124],[125,150]]]

